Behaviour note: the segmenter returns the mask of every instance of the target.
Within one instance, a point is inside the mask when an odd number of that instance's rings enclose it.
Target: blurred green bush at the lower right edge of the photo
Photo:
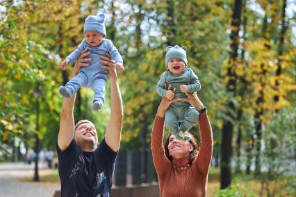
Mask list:
[[[291,161],[295,158],[296,140],[296,110],[283,108],[274,115],[273,121],[265,131],[265,150],[261,157],[266,173],[259,179],[262,190],[269,196],[274,196],[277,191],[289,191],[295,185],[295,166]],[[284,175],[292,175],[292,182],[279,182]]]

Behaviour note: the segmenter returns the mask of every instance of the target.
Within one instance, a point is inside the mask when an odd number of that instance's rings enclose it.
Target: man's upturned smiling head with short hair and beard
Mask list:
[[[88,148],[89,151],[92,151],[98,144],[97,130],[90,122],[81,123],[76,128],[74,139],[82,149]]]

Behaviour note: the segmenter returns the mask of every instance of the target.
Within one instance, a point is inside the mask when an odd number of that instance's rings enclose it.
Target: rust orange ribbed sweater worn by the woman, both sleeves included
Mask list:
[[[165,149],[163,147],[164,121],[164,118],[156,115],[151,134],[151,150],[158,175],[161,196],[206,196],[208,169],[213,151],[212,128],[206,112],[199,115],[201,139],[199,153],[192,165],[183,170],[174,168],[174,164],[165,156]]]

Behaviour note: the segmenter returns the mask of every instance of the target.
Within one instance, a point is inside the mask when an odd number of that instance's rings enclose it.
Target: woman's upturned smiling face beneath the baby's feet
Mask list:
[[[190,142],[178,140],[174,135],[170,136],[167,148],[174,159],[189,157],[189,153],[193,150],[193,146]]]

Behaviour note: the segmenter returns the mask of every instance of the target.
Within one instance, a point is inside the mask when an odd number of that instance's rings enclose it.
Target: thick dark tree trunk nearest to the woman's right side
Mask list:
[[[227,90],[231,94],[235,94],[236,88],[236,59],[238,57],[238,44],[239,36],[238,31],[240,28],[240,15],[242,10],[242,0],[236,0],[234,3],[233,15],[231,18],[231,52],[229,58],[229,67],[227,74],[229,81],[227,83]],[[233,95],[231,95],[233,96]],[[230,99],[228,103],[229,109],[234,112],[234,103]],[[229,117],[233,120],[232,112],[228,112]],[[231,185],[231,155],[232,155],[232,135],[233,135],[233,122],[229,119],[224,120],[222,127],[222,144],[221,144],[221,171],[220,171],[220,188],[225,189]]]

